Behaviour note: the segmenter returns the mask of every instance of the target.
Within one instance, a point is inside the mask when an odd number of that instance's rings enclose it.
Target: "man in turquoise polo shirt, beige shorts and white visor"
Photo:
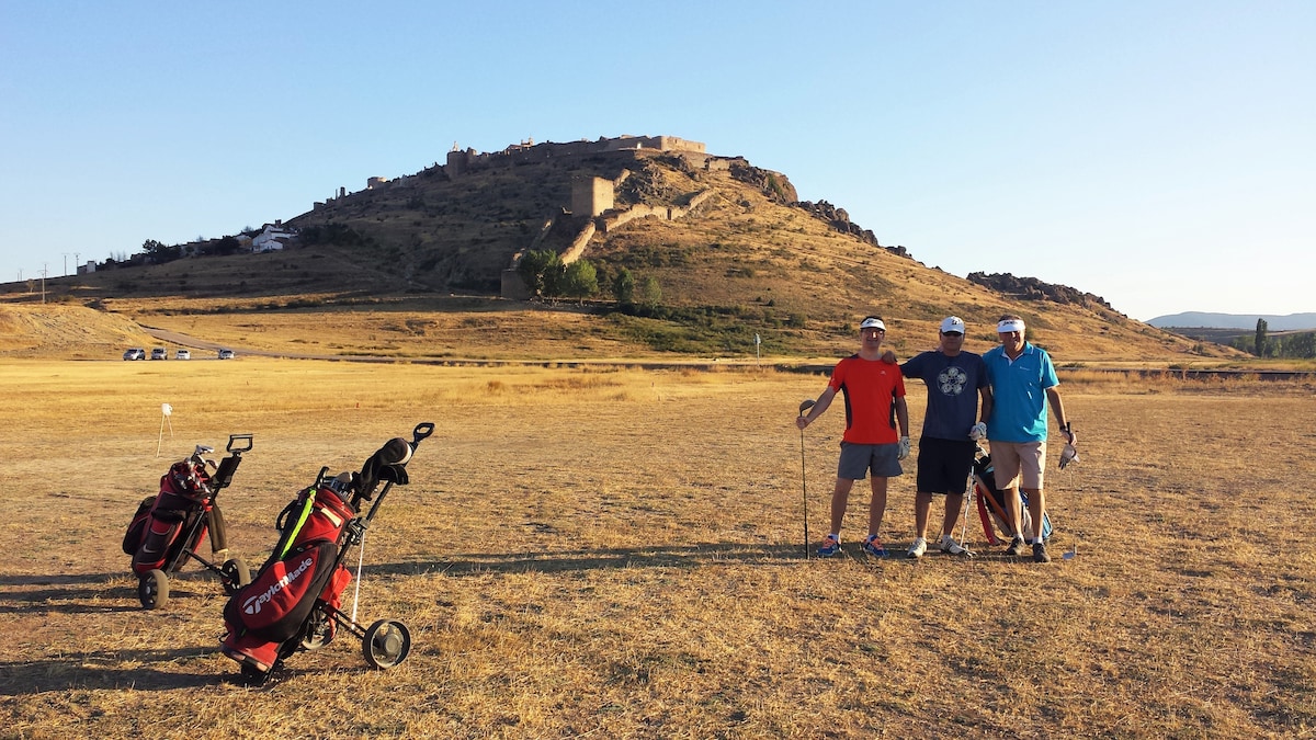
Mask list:
[[[1023,532],[1019,491],[1028,494],[1028,514],[1036,523],[1033,531],[1033,561],[1050,562],[1042,540],[1042,516],[1046,498],[1042,489],[1046,467],[1046,407],[1050,406],[1061,432],[1069,444],[1076,437],[1065,416],[1065,404],[1057,390],[1059,378],[1051,358],[1040,346],[1024,340],[1024,320],[1013,313],[1000,317],[996,336],[1000,346],[983,354],[987,378],[991,381],[992,407],[987,417],[987,437],[991,440],[991,461],[996,469],[996,487],[1005,494],[1015,532]],[[1008,556],[1024,552],[1024,539],[1015,535]]]

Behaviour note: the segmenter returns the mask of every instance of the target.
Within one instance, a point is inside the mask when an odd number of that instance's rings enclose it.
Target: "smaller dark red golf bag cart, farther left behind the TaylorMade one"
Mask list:
[[[159,494],[138,504],[124,535],[124,553],[133,556],[137,598],[143,607],[159,608],[168,602],[168,577],[182,570],[188,558],[217,574],[226,594],[251,581],[242,558],[228,558],[224,514],[216,502],[220,491],[233,482],[242,453],[250,449],[251,435],[229,435],[229,456],[216,465],[205,458],[215,448],[196,445],[187,460],[175,462],[161,475]],[[224,560],[224,565],[215,565],[196,553],[207,535],[211,536],[212,558]]]

